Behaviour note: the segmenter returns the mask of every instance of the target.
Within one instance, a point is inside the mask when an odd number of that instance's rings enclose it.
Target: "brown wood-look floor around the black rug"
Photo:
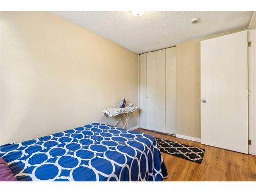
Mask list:
[[[201,164],[162,153],[169,174],[165,181],[256,181],[256,156],[223,150],[153,131],[143,129],[135,131],[205,149]]]

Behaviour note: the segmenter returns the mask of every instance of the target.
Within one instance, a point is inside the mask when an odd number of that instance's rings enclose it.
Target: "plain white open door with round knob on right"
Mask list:
[[[247,31],[201,41],[201,143],[248,153]]]

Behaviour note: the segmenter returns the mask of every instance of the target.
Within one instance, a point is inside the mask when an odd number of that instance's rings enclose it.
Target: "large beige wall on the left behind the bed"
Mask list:
[[[138,55],[49,12],[0,12],[0,70],[0,144],[113,124],[104,108],[138,104]]]

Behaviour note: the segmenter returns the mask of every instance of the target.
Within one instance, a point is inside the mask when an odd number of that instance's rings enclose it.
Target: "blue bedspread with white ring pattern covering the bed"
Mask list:
[[[92,123],[0,147],[18,181],[163,181],[167,170],[149,135]]]

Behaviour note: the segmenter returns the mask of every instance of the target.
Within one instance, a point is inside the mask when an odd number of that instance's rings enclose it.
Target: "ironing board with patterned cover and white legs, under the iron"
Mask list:
[[[126,106],[125,108],[109,108],[105,109],[102,111],[103,114],[108,115],[109,117],[115,117],[118,116],[118,120],[116,121],[115,125],[116,126],[119,122],[121,123],[121,126],[124,129],[127,129],[128,126],[132,128],[132,126],[129,123],[129,119],[134,111],[138,109],[138,106]],[[125,122],[123,123],[121,116],[124,117]]]

